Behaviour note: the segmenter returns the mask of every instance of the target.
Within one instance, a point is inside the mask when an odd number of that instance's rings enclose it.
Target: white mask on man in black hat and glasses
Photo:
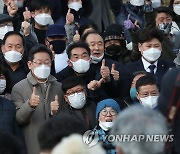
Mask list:
[[[86,103],[86,95],[84,92],[75,93],[68,96],[70,105],[75,109],[82,109]]]

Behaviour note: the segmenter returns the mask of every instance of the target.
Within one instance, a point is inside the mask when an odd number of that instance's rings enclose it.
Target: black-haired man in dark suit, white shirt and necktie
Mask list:
[[[141,59],[125,65],[120,71],[121,95],[129,96],[132,75],[136,71],[150,72],[157,79],[160,85],[162,77],[171,68],[173,63],[161,59],[162,34],[156,29],[145,29],[139,36],[138,48],[141,52]]]

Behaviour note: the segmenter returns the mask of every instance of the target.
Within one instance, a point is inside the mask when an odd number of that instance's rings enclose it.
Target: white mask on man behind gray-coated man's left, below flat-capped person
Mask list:
[[[16,63],[22,59],[22,54],[18,51],[11,50],[4,54],[4,58],[10,63]]]

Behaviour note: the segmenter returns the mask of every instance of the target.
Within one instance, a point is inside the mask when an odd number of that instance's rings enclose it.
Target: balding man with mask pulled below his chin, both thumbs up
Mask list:
[[[88,32],[81,40],[89,45],[91,66],[95,70],[94,79],[104,80],[101,88],[105,92],[106,98],[118,97],[120,65],[118,62],[104,57],[104,40],[102,36],[97,32]],[[94,88],[97,89],[97,87]]]

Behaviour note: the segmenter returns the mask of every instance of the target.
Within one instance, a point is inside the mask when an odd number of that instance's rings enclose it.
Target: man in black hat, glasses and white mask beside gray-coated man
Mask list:
[[[88,129],[94,128],[96,124],[96,105],[87,97],[86,84],[81,76],[71,76],[62,82],[65,104],[64,112],[77,117],[87,124]]]

